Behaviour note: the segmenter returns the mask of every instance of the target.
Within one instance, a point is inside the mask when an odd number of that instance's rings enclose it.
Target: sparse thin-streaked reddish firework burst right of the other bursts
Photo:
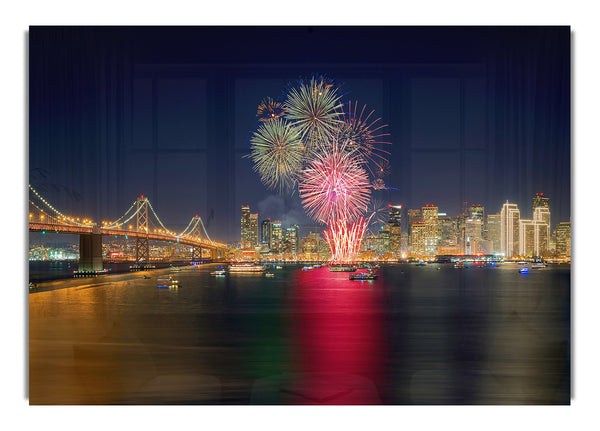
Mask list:
[[[387,126],[377,124],[381,121],[380,118],[371,118],[375,112],[374,110],[364,116],[366,105],[363,105],[360,112],[358,111],[358,102],[354,102],[354,106],[352,106],[352,102],[348,102],[344,106],[347,107],[340,116],[342,122],[338,123],[336,128],[336,139],[347,141],[347,150],[356,152],[364,160],[373,175],[379,177],[388,175],[389,163],[386,156],[390,153],[381,148],[384,145],[391,145],[391,143],[382,140],[385,136],[389,136],[389,133],[382,133],[382,129]],[[369,162],[373,166],[370,166]]]

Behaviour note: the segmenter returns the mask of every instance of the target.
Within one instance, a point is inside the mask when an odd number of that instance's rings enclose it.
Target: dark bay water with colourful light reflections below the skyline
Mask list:
[[[29,296],[32,404],[565,404],[570,270],[164,271]]]

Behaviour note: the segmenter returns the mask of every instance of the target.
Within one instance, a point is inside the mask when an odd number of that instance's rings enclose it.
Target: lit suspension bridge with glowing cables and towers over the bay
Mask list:
[[[205,250],[213,261],[224,258],[227,252],[225,244],[210,239],[199,215],[193,216],[186,228],[176,233],[165,227],[144,195],[136,198],[117,220],[98,224],[91,219],[65,215],[29,185],[29,231],[79,235],[79,272],[82,273],[103,270],[102,236],[135,239],[134,260],[139,266],[151,262],[150,241],[189,246],[192,262],[200,261]]]

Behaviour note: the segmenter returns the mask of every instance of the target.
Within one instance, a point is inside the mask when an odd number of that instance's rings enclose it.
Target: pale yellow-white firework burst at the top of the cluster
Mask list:
[[[315,140],[331,136],[341,124],[341,94],[324,77],[313,77],[291,87],[285,100],[286,117],[300,130],[308,148]]]

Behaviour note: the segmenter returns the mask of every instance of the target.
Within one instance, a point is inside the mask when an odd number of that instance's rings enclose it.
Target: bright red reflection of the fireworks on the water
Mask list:
[[[294,404],[380,404],[383,280],[350,281],[328,268],[298,271],[292,298],[300,374]]]

